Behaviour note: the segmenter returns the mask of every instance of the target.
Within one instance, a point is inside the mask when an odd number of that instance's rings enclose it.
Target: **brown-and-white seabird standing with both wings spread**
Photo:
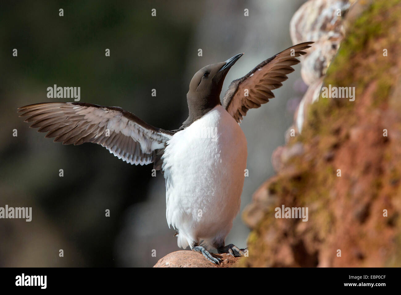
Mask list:
[[[161,170],[166,185],[166,219],[180,248],[190,247],[213,264],[218,253],[245,255],[225,244],[240,203],[247,165],[247,140],[240,123],[248,110],[274,97],[313,42],[300,43],[262,61],[231,82],[220,100],[229,69],[244,53],[207,65],[192,77],[186,95],[188,118],[177,130],[147,124],[119,107],[85,102],[44,102],[18,108],[31,128],[54,142],[104,146],[126,163]]]

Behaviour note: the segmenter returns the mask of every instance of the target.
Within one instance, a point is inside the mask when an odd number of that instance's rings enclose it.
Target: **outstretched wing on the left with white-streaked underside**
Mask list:
[[[156,161],[174,132],[153,127],[118,107],[83,102],[49,102],[18,108],[31,128],[54,142],[104,146],[118,159],[135,165]]]

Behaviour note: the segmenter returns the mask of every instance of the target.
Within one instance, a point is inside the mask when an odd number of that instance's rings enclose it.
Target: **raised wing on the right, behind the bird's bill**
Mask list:
[[[259,108],[261,104],[268,102],[269,98],[273,98],[271,90],[283,85],[281,82],[288,79],[287,75],[294,71],[291,66],[300,62],[296,57],[304,55],[303,50],[309,48],[312,43],[300,43],[277,53],[261,62],[244,77],[232,81],[223,98],[223,106],[227,112],[241,123],[249,109]]]

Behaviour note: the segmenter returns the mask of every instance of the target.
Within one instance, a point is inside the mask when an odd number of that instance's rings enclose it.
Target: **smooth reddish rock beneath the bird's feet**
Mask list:
[[[223,261],[219,265],[215,265],[206,260],[201,253],[181,250],[167,254],[154,267],[233,267],[239,257],[226,254],[216,254]]]

